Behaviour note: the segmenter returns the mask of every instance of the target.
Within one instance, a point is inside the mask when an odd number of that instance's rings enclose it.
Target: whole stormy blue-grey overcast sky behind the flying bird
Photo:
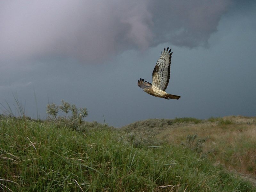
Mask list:
[[[142,92],[172,48],[165,100]],[[256,1],[1,1],[0,103],[48,102],[120,127],[148,118],[256,116]],[[36,99],[35,99],[36,98]],[[3,107],[1,107],[3,108]]]

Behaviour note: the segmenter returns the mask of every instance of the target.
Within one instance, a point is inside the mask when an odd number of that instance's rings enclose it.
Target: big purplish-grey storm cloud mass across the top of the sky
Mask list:
[[[98,63],[163,42],[205,45],[229,1],[2,1],[0,57],[5,62],[70,57]]]

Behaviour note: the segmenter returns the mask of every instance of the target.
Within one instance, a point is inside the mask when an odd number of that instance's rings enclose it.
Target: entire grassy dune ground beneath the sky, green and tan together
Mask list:
[[[121,129],[85,122],[73,131],[51,121],[2,118],[0,190],[256,191],[226,170],[233,159],[232,169],[245,161],[241,171],[255,171],[253,126],[255,119],[176,118]],[[189,145],[187,136],[195,134]],[[208,139],[199,145],[202,137]]]

